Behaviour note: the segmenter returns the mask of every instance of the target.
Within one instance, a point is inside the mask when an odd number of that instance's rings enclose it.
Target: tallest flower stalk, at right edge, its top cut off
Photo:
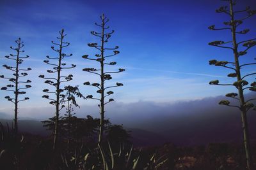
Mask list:
[[[212,41],[209,43],[209,45],[212,46],[218,46],[220,48],[227,48],[232,50],[233,55],[234,55],[234,61],[229,62],[229,61],[218,61],[218,60],[210,60],[209,64],[214,65],[214,66],[221,66],[225,67],[227,69],[231,69],[234,71],[234,73],[230,73],[227,76],[231,78],[236,78],[237,81],[234,83],[227,83],[227,84],[222,84],[219,83],[219,80],[213,80],[210,81],[210,85],[223,85],[223,86],[233,86],[236,87],[238,93],[228,93],[226,94],[227,97],[231,97],[232,99],[236,99],[239,101],[239,106],[232,105],[230,104],[230,101],[228,100],[223,100],[220,101],[219,104],[225,105],[225,106],[230,106],[230,107],[235,107],[239,108],[241,111],[241,119],[242,119],[242,124],[243,124],[243,138],[244,138],[244,148],[246,152],[246,164],[248,169],[253,169],[253,164],[252,164],[252,155],[250,153],[250,138],[249,138],[249,132],[248,132],[248,122],[247,122],[247,113],[250,109],[253,108],[255,110],[255,106],[251,101],[255,100],[254,99],[248,99],[247,101],[244,99],[244,91],[245,90],[251,90],[253,92],[256,91],[256,81],[252,82],[250,85],[248,81],[245,80],[245,78],[248,78],[248,76],[255,75],[255,73],[250,73],[250,74],[243,74],[241,73],[241,69],[243,69],[245,66],[249,65],[254,65],[256,62],[252,63],[246,63],[246,64],[240,64],[239,63],[239,58],[243,55],[245,55],[250,48],[256,45],[256,38],[252,39],[247,39],[244,41],[237,41],[237,34],[246,34],[250,30],[249,29],[244,29],[242,31],[238,31],[237,28],[239,25],[243,24],[243,21],[246,20],[246,18],[250,18],[253,15],[256,14],[255,10],[250,10],[250,7],[246,7],[246,9],[241,10],[241,11],[234,11],[233,8],[236,5],[235,0],[223,0],[227,1],[229,3],[229,8],[227,6],[221,6],[218,10],[216,10],[217,13],[225,13],[230,17],[230,21],[224,22],[225,27],[222,28],[216,28],[215,25],[211,25],[209,29],[211,30],[228,30],[231,31],[231,36],[232,36],[232,41]],[[244,13],[246,12],[247,15],[243,18],[235,18],[237,13]],[[243,48],[243,50],[240,50],[240,48]],[[246,87],[247,86],[247,87]]]

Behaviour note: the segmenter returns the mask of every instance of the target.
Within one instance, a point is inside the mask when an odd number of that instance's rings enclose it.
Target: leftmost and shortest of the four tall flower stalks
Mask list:
[[[18,104],[20,101],[26,101],[29,99],[29,97],[24,97],[24,99],[19,99],[19,95],[26,94],[26,92],[23,90],[31,88],[31,85],[24,85],[26,83],[31,83],[30,80],[20,81],[19,78],[28,76],[28,73],[26,73],[25,71],[29,71],[31,70],[31,68],[28,67],[27,69],[20,69],[20,64],[22,64],[22,62],[24,61],[23,59],[26,59],[29,56],[26,55],[26,57],[20,57],[21,53],[25,52],[24,50],[21,50],[21,48],[24,47],[24,42],[21,41],[20,38],[17,39],[15,43],[17,44],[17,47],[15,48],[13,48],[12,46],[10,47],[12,50],[16,51],[15,55],[11,53],[10,56],[6,55],[5,57],[6,59],[15,60],[16,66],[7,66],[6,64],[3,65],[3,67],[5,67],[6,69],[9,69],[10,71],[14,72],[13,77],[6,77],[4,75],[0,75],[0,78],[6,78],[12,82],[12,84],[6,85],[6,87],[2,87],[1,90],[7,90],[10,92],[13,92],[13,94],[15,95],[14,98],[10,96],[5,96],[4,98],[15,104],[13,130],[16,135],[18,132],[18,122],[17,122],[18,121]],[[20,86],[20,84],[22,85]]]

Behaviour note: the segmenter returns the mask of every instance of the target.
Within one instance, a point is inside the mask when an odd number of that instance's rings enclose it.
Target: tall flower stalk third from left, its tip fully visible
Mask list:
[[[107,19],[107,17],[105,17],[105,15],[103,14],[102,16],[100,16],[100,20],[101,20],[101,24],[97,24],[95,23],[95,25],[100,27],[100,32],[95,32],[95,31],[91,31],[91,34],[93,36],[97,36],[100,39],[100,45],[98,45],[97,43],[88,43],[88,46],[95,48],[96,50],[99,50],[99,53],[95,54],[95,57],[88,57],[88,55],[83,55],[84,59],[87,60],[95,60],[96,62],[99,62],[100,64],[100,68],[96,69],[96,68],[84,68],[83,71],[86,71],[88,73],[92,73],[92,74],[96,74],[97,76],[100,77],[100,83],[90,83],[90,82],[85,82],[84,85],[90,85],[93,87],[97,88],[97,93],[100,94],[100,97],[93,97],[92,95],[86,96],[87,99],[95,99],[97,101],[100,102],[100,104],[98,105],[100,108],[100,132],[99,132],[99,140],[98,143],[100,144],[102,141],[102,135],[103,135],[103,131],[104,131],[104,113],[105,113],[105,109],[104,106],[112,101],[114,101],[114,99],[108,99],[108,101],[106,102],[105,99],[106,97],[110,96],[111,94],[113,94],[113,91],[106,91],[107,89],[113,88],[113,87],[119,87],[122,86],[122,83],[116,83],[116,85],[113,86],[108,86],[105,87],[105,82],[107,80],[111,80],[111,73],[120,73],[122,71],[125,71],[125,69],[118,69],[118,71],[107,71],[105,72],[104,69],[106,67],[106,65],[110,65],[113,66],[116,64],[116,62],[106,62],[106,58],[108,57],[113,57],[115,55],[117,55],[119,53],[119,51],[117,51],[116,49],[118,49],[118,46],[115,46],[115,48],[106,48],[105,43],[108,43],[108,39],[111,37],[111,34],[114,33],[114,31],[112,30],[111,32],[106,32],[106,29],[109,29],[109,26],[107,27],[106,24],[109,21],[109,19]],[[112,54],[107,54],[106,52],[108,50],[113,50]]]

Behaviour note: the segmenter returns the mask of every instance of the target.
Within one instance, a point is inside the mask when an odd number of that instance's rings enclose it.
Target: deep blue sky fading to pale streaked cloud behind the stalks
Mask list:
[[[109,18],[109,29],[115,33],[109,39],[108,46],[118,45],[120,54],[109,59],[116,61],[116,66],[106,69],[113,71],[124,68],[123,73],[113,75],[108,85],[116,82],[124,83],[123,87],[113,89],[113,99],[116,103],[129,104],[141,101],[163,103],[177,103],[179,101],[194,101],[205,97],[216,97],[227,92],[234,92],[230,87],[209,85],[211,80],[223,83],[233,82],[227,78],[229,70],[221,67],[209,66],[211,59],[233,60],[232,52],[227,49],[209,46],[215,40],[230,41],[228,31],[210,31],[209,25],[221,27],[228,20],[227,15],[216,13],[223,1],[31,1],[31,0],[1,0],[0,1],[0,65],[12,62],[4,58],[12,53],[10,46],[15,40],[24,41],[25,59],[22,67],[31,67],[28,78],[32,81],[32,88],[26,90],[24,97],[29,101],[20,103],[20,114],[33,117],[35,107],[54,108],[49,101],[42,99],[43,89],[49,88],[44,80],[38,78],[40,74],[47,74],[51,69],[45,64],[46,55],[54,57],[51,41],[56,41],[58,31],[65,29],[65,40],[70,46],[65,53],[73,56],[67,59],[67,64],[76,64],[72,70],[63,74],[74,74],[71,85],[79,85],[79,89],[87,96],[97,95],[95,89],[83,85],[85,81],[99,81],[97,76],[82,71],[84,67],[97,67],[97,63],[82,59],[82,55],[94,55],[95,50],[87,43],[96,43],[97,38],[90,31],[99,31],[94,25],[100,22],[100,15],[104,13]],[[244,9],[250,5],[256,8],[254,0],[237,1],[236,9]],[[241,17],[241,16],[237,16]],[[238,40],[255,38],[256,17],[244,22],[243,28],[250,28],[246,36],[238,36]],[[241,58],[241,63],[254,62],[256,50],[252,49]],[[252,73],[255,66],[243,69],[243,74]],[[0,74],[10,75],[4,67]],[[25,79],[26,79],[25,78]],[[248,80],[253,81],[255,77]],[[0,79],[0,87],[4,87],[8,80]],[[0,112],[10,113],[13,104],[4,99],[9,92],[0,92]],[[79,100],[81,106],[97,105],[96,101]],[[216,103],[212,103],[216,104]],[[217,105],[217,104],[216,104]],[[86,107],[81,107],[86,111]]]

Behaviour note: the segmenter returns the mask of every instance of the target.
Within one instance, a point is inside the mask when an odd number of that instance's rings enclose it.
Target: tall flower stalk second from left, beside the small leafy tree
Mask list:
[[[51,46],[52,50],[58,53],[58,57],[49,57],[48,55],[46,56],[47,59],[58,60],[58,62],[55,64],[55,63],[49,62],[49,60],[44,60],[46,64],[54,66],[52,70],[47,70],[47,72],[50,74],[56,73],[56,78],[46,78],[45,75],[39,76],[40,78],[44,78],[46,80],[45,83],[51,85],[54,89],[52,91],[50,91],[49,89],[44,89],[43,92],[52,94],[54,95],[54,97],[56,97],[56,98],[51,98],[50,96],[47,96],[47,95],[42,96],[45,99],[49,99],[50,104],[56,106],[56,113],[54,118],[55,129],[54,129],[53,149],[56,148],[56,145],[58,143],[58,135],[59,135],[59,129],[60,129],[60,125],[59,125],[60,110],[65,107],[65,105],[63,104],[61,105],[61,103],[65,102],[63,101],[63,99],[65,99],[66,97],[66,95],[63,94],[64,89],[61,89],[61,83],[71,81],[73,77],[72,74],[69,74],[68,76],[62,76],[61,71],[63,71],[63,69],[72,69],[76,67],[76,65],[74,64],[71,64],[70,67],[67,67],[66,66],[67,64],[63,62],[63,59],[65,57],[71,57],[72,54],[67,55],[66,53],[63,53],[63,48],[69,46],[70,43],[64,42],[64,38],[65,36],[67,36],[67,34],[64,34],[64,29],[61,29],[59,33],[60,33],[60,37],[57,37],[57,39],[59,39],[60,42],[54,43],[54,41],[52,41],[52,44],[56,45],[57,47]]]

